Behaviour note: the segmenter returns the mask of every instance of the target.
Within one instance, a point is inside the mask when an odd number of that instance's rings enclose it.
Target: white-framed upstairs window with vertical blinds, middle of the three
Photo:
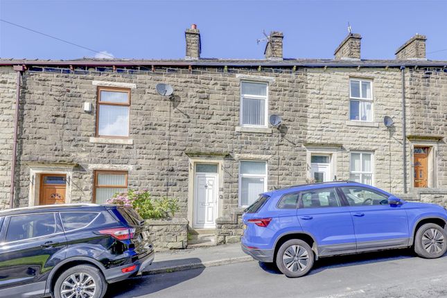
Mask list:
[[[267,89],[264,82],[240,82],[240,125],[267,127]]]

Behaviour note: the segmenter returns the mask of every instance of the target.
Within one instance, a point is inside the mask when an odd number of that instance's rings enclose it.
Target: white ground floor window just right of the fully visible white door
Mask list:
[[[256,201],[260,193],[267,191],[267,162],[240,161],[239,205],[246,207]]]

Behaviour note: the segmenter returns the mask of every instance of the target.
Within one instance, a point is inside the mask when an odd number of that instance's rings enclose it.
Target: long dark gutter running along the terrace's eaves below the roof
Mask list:
[[[372,62],[347,61],[347,62],[272,62],[272,61],[249,61],[249,62],[207,62],[206,60],[182,60],[182,61],[32,61],[32,60],[0,60],[0,66],[12,65],[29,66],[83,66],[83,67],[447,67],[447,61],[428,62],[425,60],[414,60],[409,62]]]

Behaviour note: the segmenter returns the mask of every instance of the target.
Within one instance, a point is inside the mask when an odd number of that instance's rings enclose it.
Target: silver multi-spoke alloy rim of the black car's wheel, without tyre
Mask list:
[[[76,272],[64,279],[60,288],[63,298],[91,298],[96,293],[96,283],[89,274]]]

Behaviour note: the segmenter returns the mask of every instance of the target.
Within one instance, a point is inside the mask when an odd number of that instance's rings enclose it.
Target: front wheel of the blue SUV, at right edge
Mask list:
[[[439,225],[422,225],[414,236],[414,252],[423,258],[439,258],[447,250],[447,234]]]

